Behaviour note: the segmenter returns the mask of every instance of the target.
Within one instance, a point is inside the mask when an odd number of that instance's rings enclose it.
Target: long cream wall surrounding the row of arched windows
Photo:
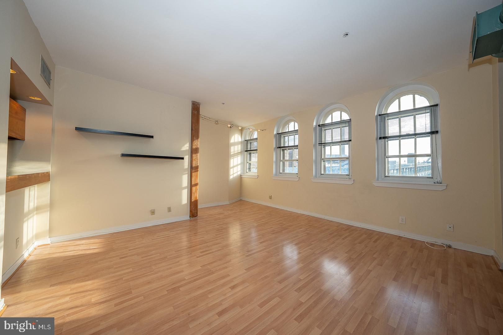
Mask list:
[[[419,79],[439,93],[443,191],[376,187],[375,110],[388,88],[343,99],[352,117],[352,185],[314,183],[313,120],[321,106],[292,114],[299,124],[299,181],[272,180],[277,119],[254,125],[259,177],[243,178],[241,196],[439,239],[494,248],[491,65],[458,67]],[[472,136],[478,130],[477,141]],[[475,155],[477,173],[467,161]],[[268,195],[273,199],[269,200]],[[406,225],[398,223],[406,217]],[[328,223],[327,223],[328,224]],[[454,224],[454,232],[446,231]]]

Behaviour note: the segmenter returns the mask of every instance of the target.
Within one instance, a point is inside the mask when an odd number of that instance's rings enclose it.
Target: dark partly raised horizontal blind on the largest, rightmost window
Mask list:
[[[439,105],[379,114],[379,140],[406,136],[438,134]]]

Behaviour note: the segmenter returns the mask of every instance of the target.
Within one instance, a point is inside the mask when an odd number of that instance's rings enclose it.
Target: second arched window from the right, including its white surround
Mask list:
[[[313,125],[313,181],[351,179],[351,117],[343,104],[330,103],[320,109]]]

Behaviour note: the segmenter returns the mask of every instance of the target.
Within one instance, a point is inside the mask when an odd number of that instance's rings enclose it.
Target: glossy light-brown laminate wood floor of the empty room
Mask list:
[[[501,334],[489,256],[246,201],[38,248],[3,316],[56,334]]]

